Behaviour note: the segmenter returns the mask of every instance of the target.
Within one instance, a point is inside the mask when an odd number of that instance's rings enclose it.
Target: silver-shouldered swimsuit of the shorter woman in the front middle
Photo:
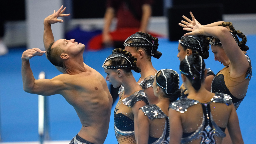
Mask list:
[[[155,137],[151,137],[149,135],[148,144],[169,144],[170,137],[169,137],[169,119],[168,119],[168,116],[166,116],[166,114],[164,114],[164,112],[161,110],[161,108],[159,108],[155,104],[146,105],[146,106],[141,107],[140,109],[152,121],[155,120],[155,119],[163,119],[163,118],[165,119],[165,122],[164,122],[165,124],[164,124],[164,127],[163,127],[163,133],[162,133],[161,137],[155,138]],[[157,127],[155,129],[161,129],[161,127]]]

